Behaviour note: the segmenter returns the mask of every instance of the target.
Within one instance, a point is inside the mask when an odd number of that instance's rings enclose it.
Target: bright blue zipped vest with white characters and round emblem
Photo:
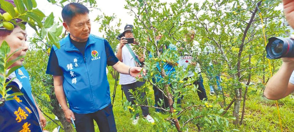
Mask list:
[[[105,41],[90,34],[85,56],[70,42],[70,35],[60,40],[60,49],[53,46],[63,71],[63,90],[75,113],[97,112],[111,103]]]

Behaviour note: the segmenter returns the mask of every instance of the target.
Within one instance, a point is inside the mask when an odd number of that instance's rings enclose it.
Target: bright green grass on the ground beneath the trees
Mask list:
[[[114,83],[115,80],[111,78],[111,75],[108,74],[108,81],[110,84],[110,91],[111,95],[113,94],[113,89],[114,89]],[[215,96],[209,96],[209,86],[206,83],[206,80],[204,80],[204,85],[206,89],[206,93],[208,95],[208,101],[209,102],[214,102],[215,101]],[[153,96],[153,90],[152,87],[150,87],[150,93],[149,97]],[[250,89],[248,93],[251,93],[251,91],[254,89]],[[278,119],[278,114],[277,114],[277,107],[275,105],[275,101],[270,101],[265,98],[263,98],[262,93],[260,90],[258,90],[255,93],[249,94],[247,97],[246,101],[246,109],[245,109],[245,118],[244,118],[244,123],[241,126],[235,126],[230,123],[230,127],[233,129],[238,129],[243,132],[279,132],[281,131],[280,128],[280,123]],[[125,95],[123,95],[124,101],[126,100]],[[111,100],[113,98],[111,97]],[[192,100],[190,102],[198,102],[199,98],[197,93],[189,93],[188,96],[184,97],[183,102],[185,100]],[[230,100],[227,100],[227,104],[230,102]],[[243,102],[243,101],[242,101]],[[292,97],[286,97],[284,99],[281,99],[278,101],[279,102],[279,108],[280,108],[280,114],[281,114],[281,120],[282,120],[282,126],[283,130],[293,132],[294,131],[294,98]],[[153,103],[154,102],[149,102]],[[243,105],[243,103],[242,103]],[[183,105],[185,106],[185,105]],[[233,107],[233,106],[232,106]],[[241,117],[241,112],[242,112],[242,107],[240,109],[240,117]],[[156,117],[154,113],[155,109],[154,108],[149,108],[149,112],[152,117]],[[140,112],[140,120],[137,125],[133,125],[131,121],[131,114],[130,112],[125,112],[122,107],[122,90],[121,86],[119,85],[116,90],[116,97],[114,101],[114,106],[113,106],[113,112],[114,112],[114,117],[115,117],[115,122],[116,122],[116,128],[118,132],[152,132],[155,131],[153,130],[153,125],[148,124],[142,120],[142,115]],[[229,111],[229,114],[232,115],[232,108]],[[54,119],[53,114],[48,114],[52,119]],[[59,122],[58,122],[59,123]],[[98,132],[98,126],[95,124],[95,130]],[[51,120],[47,119],[47,130],[53,130],[57,125],[55,125]],[[175,131],[175,129],[170,130],[170,131]],[[189,129],[189,132],[192,132],[192,129]],[[207,131],[209,130],[202,130],[202,131]]]

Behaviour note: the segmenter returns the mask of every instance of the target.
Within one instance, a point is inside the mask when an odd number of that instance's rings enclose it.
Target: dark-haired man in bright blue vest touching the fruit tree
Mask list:
[[[60,49],[52,47],[46,73],[53,75],[55,94],[66,119],[74,120],[78,132],[95,131],[93,120],[100,132],[116,132],[106,66],[133,77],[141,77],[142,68],[126,66],[107,40],[90,34],[89,10],[84,5],[65,5],[62,18],[69,35],[60,40]]]

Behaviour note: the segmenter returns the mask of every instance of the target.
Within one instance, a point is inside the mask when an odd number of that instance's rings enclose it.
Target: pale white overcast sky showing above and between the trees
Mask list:
[[[36,0],[38,7],[43,13],[45,13],[46,16],[48,16],[51,12],[54,13],[55,21],[58,21],[58,17],[61,18],[61,10],[62,8],[57,5],[52,5],[47,0]],[[56,0],[60,1],[60,0]],[[110,16],[112,14],[115,14],[117,17],[117,20],[119,18],[121,19],[121,27],[120,29],[123,30],[124,26],[126,24],[133,24],[134,16],[130,16],[128,14],[129,10],[124,9],[124,5],[126,5],[125,0],[96,0],[97,1],[97,8],[99,8],[101,11],[94,9],[92,12],[90,12],[89,16],[91,20],[94,20],[97,15],[102,15],[105,13],[107,16]],[[176,0],[160,0],[160,2],[175,2]],[[189,2],[201,2],[204,0],[189,0]],[[114,22],[115,23],[115,22]],[[92,22],[91,25],[91,33],[97,36],[102,36],[103,33],[99,32],[98,29],[100,27],[100,24],[96,22]],[[28,37],[32,37],[32,34],[35,33],[35,31],[28,26],[27,28]]]

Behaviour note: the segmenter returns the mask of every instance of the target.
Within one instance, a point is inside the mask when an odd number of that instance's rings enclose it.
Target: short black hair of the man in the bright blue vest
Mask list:
[[[61,11],[61,16],[66,24],[70,24],[70,21],[74,16],[78,14],[89,14],[89,9],[80,3],[69,3],[65,5]]]

